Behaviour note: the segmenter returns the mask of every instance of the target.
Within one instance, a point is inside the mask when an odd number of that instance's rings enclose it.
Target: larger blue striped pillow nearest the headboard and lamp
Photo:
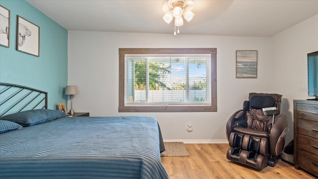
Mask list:
[[[59,110],[35,109],[8,114],[0,117],[0,119],[12,121],[26,127],[65,117],[65,115],[65,112]]]

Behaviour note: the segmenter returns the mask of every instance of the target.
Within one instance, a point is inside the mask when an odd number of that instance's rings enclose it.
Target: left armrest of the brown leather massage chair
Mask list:
[[[229,141],[230,135],[233,132],[234,127],[247,127],[247,121],[245,119],[245,111],[236,111],[228,120],[226,125],[226,134]]]

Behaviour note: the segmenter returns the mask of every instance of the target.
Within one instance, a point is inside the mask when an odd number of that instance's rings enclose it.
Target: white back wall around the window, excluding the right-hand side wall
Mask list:
[[[269,92],[270,38],[69,31],[73,108],[91,116],[151,115],[165,141],[227,142],[225,124],[249,92]],[[217,48],[218,112],[118,112],[118,48]],[[236,78],[236,50],[257,50],[256,79]],[[70,106],[70,105],[69,105]],[[188,122],[193,131],[187,132]]]

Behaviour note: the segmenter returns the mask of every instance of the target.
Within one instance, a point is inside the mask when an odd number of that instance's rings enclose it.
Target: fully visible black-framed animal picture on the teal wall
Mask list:
[[[40,27],[17,15],[16,50],[40,56]]]

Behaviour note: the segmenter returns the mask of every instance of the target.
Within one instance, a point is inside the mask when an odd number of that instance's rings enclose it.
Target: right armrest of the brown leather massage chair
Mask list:
[[[285,135],[288,126],[287,115],[285,113],[276,115],[275,122],[269,133],[271,155],[278,156],[285,147]]]

